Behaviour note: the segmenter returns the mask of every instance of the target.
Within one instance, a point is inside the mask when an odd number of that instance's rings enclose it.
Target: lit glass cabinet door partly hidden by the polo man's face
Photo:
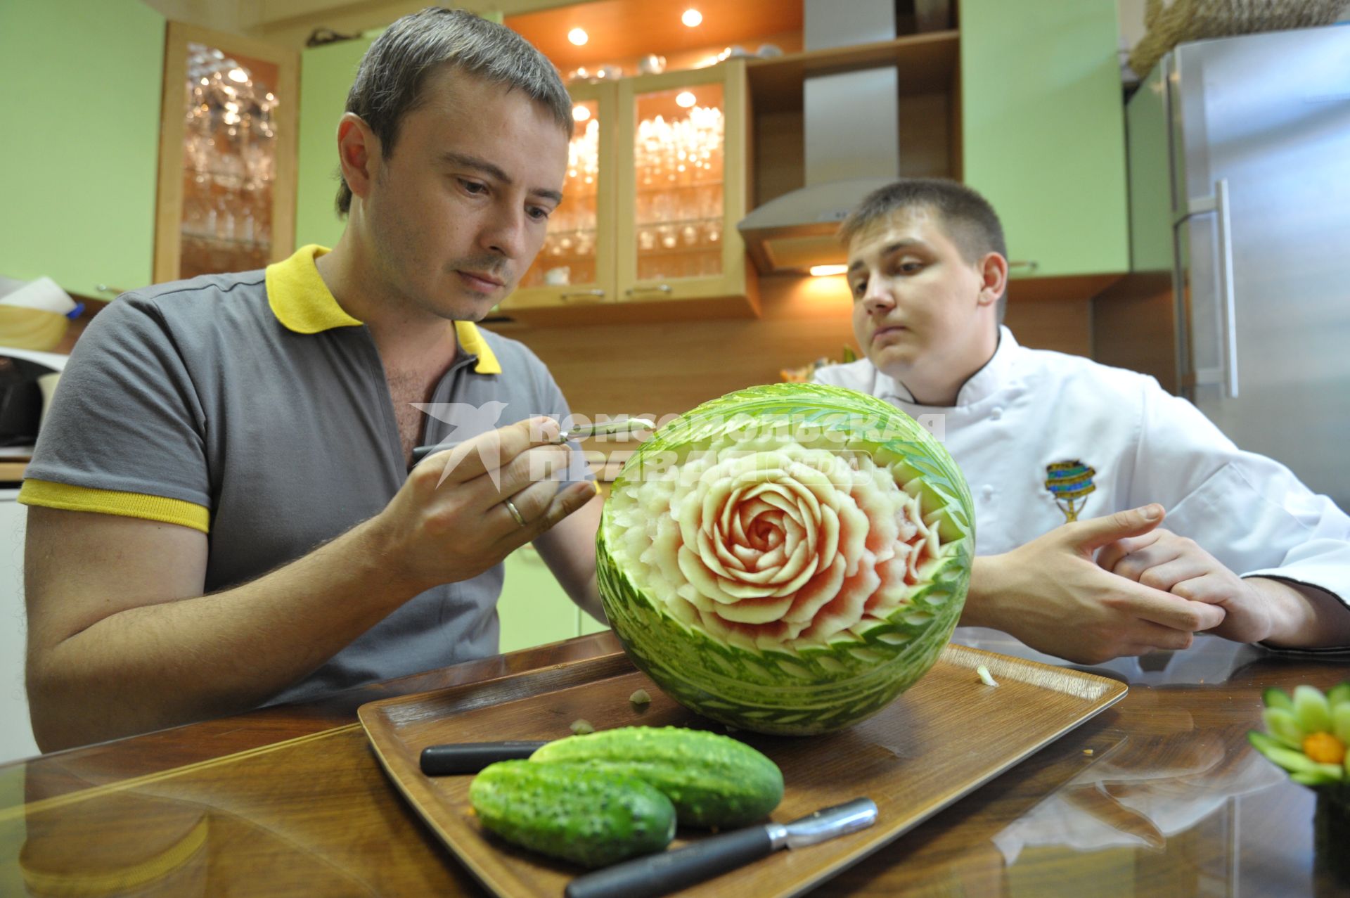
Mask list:
[[[548,217],[533,265],[502,301],[508,313],[614,301],[614,86],[583,84],[570,92],[575,132],[563,201]]]

